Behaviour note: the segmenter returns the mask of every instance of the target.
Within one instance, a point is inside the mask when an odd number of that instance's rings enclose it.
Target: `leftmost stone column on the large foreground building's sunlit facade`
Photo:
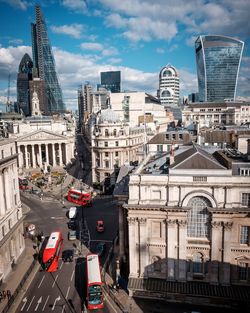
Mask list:
[[[137,256],[137,235],[136,218],[128,218],[128,238],[129,238],[129,276],[138,277],[138,256]]]

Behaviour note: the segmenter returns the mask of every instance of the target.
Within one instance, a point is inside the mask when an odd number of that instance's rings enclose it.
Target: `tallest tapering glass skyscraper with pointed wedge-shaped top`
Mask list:
[[[46,24],[40,6],[36,6],[36,23],[31,24],[34,77],[46,83],[49,112],[63,112],[65,106],[58,82],[55,60],[49,42]]]

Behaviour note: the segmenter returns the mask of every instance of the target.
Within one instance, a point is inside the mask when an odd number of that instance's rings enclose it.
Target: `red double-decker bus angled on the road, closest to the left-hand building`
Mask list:
[[[55,272],[58,269],[62,245],[62,233],[60,231],[51,233],[42,256],[42,268],[46,272]]]

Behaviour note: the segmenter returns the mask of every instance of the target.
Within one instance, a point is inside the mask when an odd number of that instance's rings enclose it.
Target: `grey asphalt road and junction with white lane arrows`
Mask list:
[[[62,208],[58,201],[40,201],[32,195],[22,196],[22,202],[31,207],[25,222],[35,224],[45,236],[49,236],[52,231],[62,231],[63,249],[73,249],[75,256],[74,262],[64,263],[60,259],[59,269],[54,273],[38,271],[16,312],[81,312],[81,304],[85,299],[85,256],[89,250],[88,247],[82,245],[82,255],[79,255],[80,240],[69,241],[67,239],[67,211],[72,204],[66,203],[66,208]],[[83,224],[81,224],[82,214],[84,215]],[[96,232],[95,225],[99,219],[104,221],[104,233]],[[110,199],[95,199],[93,207],[84,208],[84,210],[78,208],[77,220],[77,236],[79,239],[82,237],[88,241],[90,249],[94,248],[98,242],[105,242],[106,253],[100,260],[103,264],[118,229],[118,211],[115,204]],[[107,297],[104,309],[96,312],[118,311]]]

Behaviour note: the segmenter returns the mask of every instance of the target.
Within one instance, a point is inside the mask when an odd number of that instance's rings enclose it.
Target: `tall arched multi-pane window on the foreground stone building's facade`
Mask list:
[[[209,236],[209,212],[207,207],[211,207],[210,201],[205,197],[194,197],[188,202],[191,209],[187,216],[188,237],[208,237]]]

